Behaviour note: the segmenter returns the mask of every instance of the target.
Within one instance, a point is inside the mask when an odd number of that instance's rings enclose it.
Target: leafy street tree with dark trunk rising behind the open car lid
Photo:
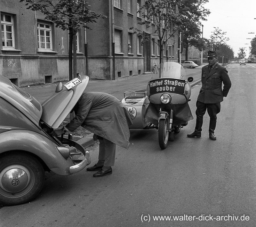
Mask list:
[[[26,2],[27,9],[45,14],[45,19],[52,21],[56,27],[60,27],[63,31],[68,30],[69,80],[73,79],[73,75],[76,77],[76,34],[82,28],[91,29],[88,23],[97,22],[97,18],[106,18],[106,16],[90,10],[87,0],[20,0],[20,2]]]

